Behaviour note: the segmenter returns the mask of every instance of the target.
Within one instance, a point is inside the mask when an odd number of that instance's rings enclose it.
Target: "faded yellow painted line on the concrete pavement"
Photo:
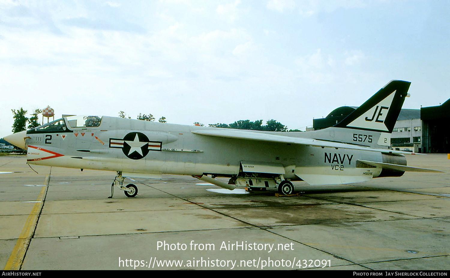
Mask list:
[[[47,188],[49,186],[49,178],[49,175],[45,177],[45,186],[42,187],[39,196],[37,197],[36,204],[33,206],[30,215],[28,215],[27,222],[25,222],[25,226],[23,226],[22,232],[17,239],[16,245],[9,256],[9,260],[6,263],[4,270],[20,270],[22,267],[25,253],[27,252],[31,237],[36,228],[40,210],[42,210],[42,206],[44,205],[45,195],[47,194]]]

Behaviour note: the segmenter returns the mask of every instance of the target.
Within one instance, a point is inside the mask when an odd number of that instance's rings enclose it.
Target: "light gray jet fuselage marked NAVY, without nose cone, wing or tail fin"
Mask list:
[[[27,162],[130,173],[211,174],[222,177],[234,177],[242,172],[253,173],[251,168],[254,167],[254,173],[281,174],[291,180],[302,180],[303,175],[306,177],[311,174],[356,176],[368,180],[379,176],[382,170],[357,161],[383,162],[383,155],[374,151],[208,137],[192,131],[216,128],[106,116],[90,117],[62,118],[28,130]],[[334,134],[324,138],[331,132],[338,133],[339,129],[275,133],[288,137],[331,139]],[[360,137],[363,140],[366,138],[366,142],[363,142],[366,145],[378,141],[379,135],[374,137],[375,133],[365,133]],[[349,134],[348,141],[354,140],[355,136],[351,132]],[[356,181],[363,180],[358,178]],[[345,178],[343,182],[346,182]]]

